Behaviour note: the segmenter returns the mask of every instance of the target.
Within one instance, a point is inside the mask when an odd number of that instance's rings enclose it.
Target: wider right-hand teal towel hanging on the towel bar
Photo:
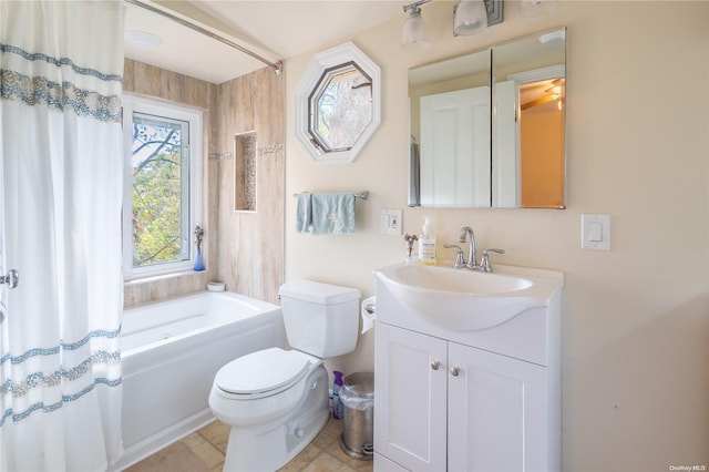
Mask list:
[[[354,233],[354,194],[314,194],[312,233]]]

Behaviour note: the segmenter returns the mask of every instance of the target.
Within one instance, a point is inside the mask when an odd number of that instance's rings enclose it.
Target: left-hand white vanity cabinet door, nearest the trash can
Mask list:
[[[411,471],[445,471],[446,342],[383,322],[374,339],[374,451]]]

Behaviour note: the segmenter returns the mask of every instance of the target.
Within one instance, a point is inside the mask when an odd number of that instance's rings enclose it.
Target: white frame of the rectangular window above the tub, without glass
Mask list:
[[[197,246],[194,227],[202,225],[202,154],[203,154],[203,117],[202,111],[187,105],[168,103],[141,95],[123,94],[123,278],[125,281],[169,275],[192,270],[194,268]],[[163,116],[189,123],[188,160],[188,218],[187,247],[189,258],[173,263],[161,263],[143,267],[133,266],[133,113]],[[184,195],[182,195],[184,199]],[[182,223],[184,225],[184,222]],[[204,247],[204,243],[203,243]],[[204,257],[204,256],[203,256]]]

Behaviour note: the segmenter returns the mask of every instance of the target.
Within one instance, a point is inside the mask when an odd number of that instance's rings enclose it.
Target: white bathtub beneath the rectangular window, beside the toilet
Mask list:
[[[122,322],[122,470],[202,428],[217,370],[286,343],[280,307],[204,291],[125,310]]]

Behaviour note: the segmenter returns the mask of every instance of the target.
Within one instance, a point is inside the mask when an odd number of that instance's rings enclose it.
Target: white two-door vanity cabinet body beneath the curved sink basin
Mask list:
[[[561,470],[556,274],[534,279],[544,297],[527,293],[514,316],[475,330],[442,327],[378,280],[377,472]]]

